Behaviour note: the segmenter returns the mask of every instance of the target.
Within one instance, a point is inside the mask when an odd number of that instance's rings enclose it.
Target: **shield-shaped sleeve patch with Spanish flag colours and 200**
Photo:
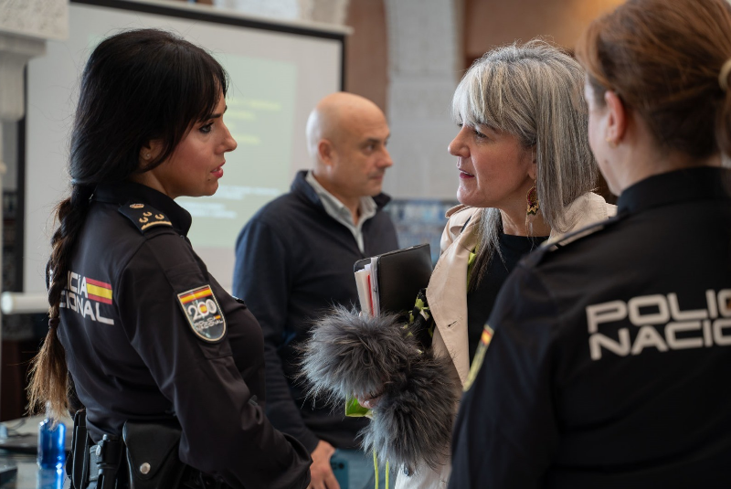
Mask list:
[[[179,293],[177,300],[193,333],[200,339],[215,343],[226,335],[226,318],[210,285]]]

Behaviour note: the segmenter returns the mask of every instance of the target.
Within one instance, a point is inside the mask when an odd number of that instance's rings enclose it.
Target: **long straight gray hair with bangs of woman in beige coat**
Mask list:
[[[541,39],[495,48],[467,70],[452,99],[458,123],[513,134],[535,154],[535,188],[546,224],[570,229],[566,207],[589,192],[597,165],[588,146],[588,111],[581,96],[584,70]],[[480,213],[477,260],[470,289],[482,282],[503,230],[500,210]],[[529,234],[532,229],[529,229]]]

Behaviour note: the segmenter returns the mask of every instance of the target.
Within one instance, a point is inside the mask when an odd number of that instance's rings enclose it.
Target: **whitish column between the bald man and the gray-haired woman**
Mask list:
[[[385,190],[398,198],[454,199],[447,145],[457,133],[450,101],[461,73],[461,0],[386,0],[389,150]]]

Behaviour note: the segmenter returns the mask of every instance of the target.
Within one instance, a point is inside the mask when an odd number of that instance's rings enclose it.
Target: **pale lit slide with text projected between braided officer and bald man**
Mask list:
[[[230,248],[243,223],[289,186],[297,67],[230,54],[218,59],[231,81],[224,122],[238,147],[226,155],[216,195],[176,202],[193,216],[192,243]]]

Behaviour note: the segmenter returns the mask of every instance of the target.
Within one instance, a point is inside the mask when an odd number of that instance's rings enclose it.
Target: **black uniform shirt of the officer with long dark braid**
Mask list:
[[[264,416],[259,324],[208,274],[190,224],[147,186],[94,192],[58,327],[91,438],[175,413],[183,462],[233,487],[305,487],[309,454]]]

